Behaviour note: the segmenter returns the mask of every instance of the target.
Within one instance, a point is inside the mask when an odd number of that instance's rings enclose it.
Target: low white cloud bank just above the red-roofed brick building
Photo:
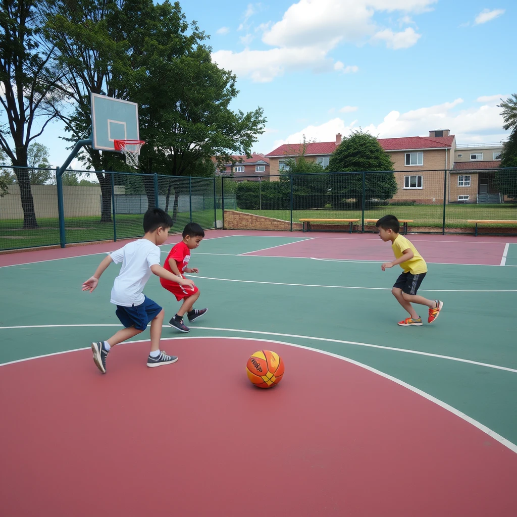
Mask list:
[[[491,97],[496,96],[486,96],[485,98]],[[429,136],[430,130],[450,129],[459,144],[500,142],[507,137],[508,133],[502,128],[503,118],[499,114],[500,108],[484,104],[459,110],[458,107],[463,102],[463,99],[455,99],[452,102],[444,102],[406,113],[391,111],[381,123],[363,125],[362,129],[378,138]],[[342,118],[332,118],[318,126],[308,125],[287,136],[285,140],[277,140],[274,145],[278,147],[285,143],[301,142],[304,134],[307,140],[333,142],[337,133],[347,136],[359,124],[360,121],[357,119],[345,124]]]

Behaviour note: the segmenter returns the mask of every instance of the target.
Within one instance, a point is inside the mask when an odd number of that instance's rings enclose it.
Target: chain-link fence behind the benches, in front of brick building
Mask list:
[[[256,219],[240,216],[236,223],[239,212],[246,212],[289,222],[293,229],[303,219],[328,219],[311,229],[348,230],[352,219],[354,230],[368,232],[392,214],[408,221],[411,232],[472,233],[476,223],[469,221],[490,220],[480,223],[484,233],[517,233],[517,169],[224,177],[222,191],[224,216],[231,217],[225,227],[256,229]]]

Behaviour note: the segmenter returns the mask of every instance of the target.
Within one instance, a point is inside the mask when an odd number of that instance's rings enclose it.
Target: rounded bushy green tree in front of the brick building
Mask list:
[[[393,162],[375,136],[362,130],[353,131],[332,153],[328,169],[332,172],[331,203],[334,208],[361,209],[363,205],[363,171],[392,171]],[[353,174],[355,173],[355,174]],[[378,204],[397,193],[397,181],[391,172],[366,174],[364,203]]]

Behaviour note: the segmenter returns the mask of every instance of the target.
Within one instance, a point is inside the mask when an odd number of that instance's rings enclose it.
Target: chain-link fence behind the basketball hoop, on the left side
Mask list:
[[[140,237],[143,214],[157,205],[171,215],[174,232],[189,221],[215,227],[215,178],[70,170],[62,176],[60,225],[55,174],[0,169],[0,250]]]

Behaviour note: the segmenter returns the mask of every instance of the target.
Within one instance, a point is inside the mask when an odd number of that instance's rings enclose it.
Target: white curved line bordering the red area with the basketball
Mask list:
[[[199,327],[199,328],[201,328],[201,327]],[[288,335],[288,334],[284,334],[284,335]],[[414,393],[416,393],[420,397],[423,397],[424,399],[427,399],[430,402],[433,402],[434,404],[436,404],[436,405],[442,407],[443,409],[447,410],[449,413],[452,413],[453,415],[455,415],[457,417],[460,417],[462,420],[465,420],[469,424],[473,425],[475,428],[477,428],[480,431],[482,431],[483,433],[489,435],[491,438],[496,440],[496,442],[499,442],[501,445],[507,447],[512,452],[517,453],[517,445],[513,444],[512,442],[510,442],[510,440],[508,440],[504,436],[501,436],[500,434],[496,433],[495,431],[493,431],[492,429],[490,429],[486,425],[482,424],[481,422],[478,422],[477,420],[474,420],[474,418],[469,417],[465,413],[461,412],[459,409],[456,409],[455,407],[452,407],[451,405],[447,404],[446,402],[443,402],[442,400],[439,400],[436,397],[433,397],[429,393],[426,393],[425,391],[422,391],[421,389],[416,388],[415,386],[412,386],[412,385],[410,385],[410,384],[408,384],[408,383],[406,383],[404,381],[401,381],[401,379],[398,379],[397,377],[393,377],[392,375],[389,375],[387,373],[381,372],[380,370],[377,370],[375,368],[372,368],[371,366],[368,366],[368,364],[364,364],[362,362],[355,361],[354,359],[349,359],[348,357],[344,357],[344,356],[341,356],[341,355],[338,355],[338,354],[333,354],[331,352],[327,352],[325,350],[320,350],[318,348],[311,348],[309,346],[298,345],[296,343],[288,343],[288,342],[285,342],[285,341],[276,341],[276,340],[272,340],[272,339],[239,338],[239,337],[233,337],[233,336],[224,336],[224,337],[223,336],[203,336],[203,337],[200,336],[199,338],[196,338],[194,336],[188,336],[188,337],[185,336],[185,337],[178,337],[178,338],[163,338],[163,341],[167,341],[167,340],[186,340],[186,339],[225,339],[225,340],[228,340],[228,339],[233,339],[233,340],[246,339],[248,341],[257,341],[257,342],[263,342],[263,343],[275,343],[275,344],[293,346],[295,348],[302,348],[302,349],[308,350],[310,352],[316,352],[318,354],[323,354],[323,355],[326,355],[326,356],[329,356],[329,357],[333,357],[335,359],[340,359],[342,361],[346,361],[346,362],[349,362],[351,364],[355,364],[355,366],[358,366],[358,367],[363,368],[365,370],[368,370],[368,371],[370,371],[372,373],[375,373],[376,375],[379,375],[381,377],[384,377],[385,379],[388,379],[388,381],[394,382],[394,383],[398,384],[399,386],[402,386],[402,387],[404,387],[404,388],[406,388],[406,389],[408,389],[410,391],[413,391]],[[149,341],[150,341],[150,339],[142,339],[142,340],[135,340],[135,341],[127,341],[127,342],[125,342],[123,344],[127,344],[127,343],[148,343]],[[7,363],[4,363],[4,364],[0,364],[0,366],[7,366],[7,364],[13,364],[13,363],[17,363],[17,362],[24,362],[24,361],[29,361],[29,360],[32,360],[32,359],[39,359],[41,357],[50,357],[50,356],[54,356],[54,355],[67,354],[69,352],[78,352],[78,351],[81,351],[81,350],[87,350],[89,348],[90,347],[76,348],[74,350],[67,350],[65,352],[56,352],[54,354],[47,354],[47,355],[44,355],[44,356],[28,357],[26,359],[19,359],[17,361],[11,361],[11,362],[7,362]]]

